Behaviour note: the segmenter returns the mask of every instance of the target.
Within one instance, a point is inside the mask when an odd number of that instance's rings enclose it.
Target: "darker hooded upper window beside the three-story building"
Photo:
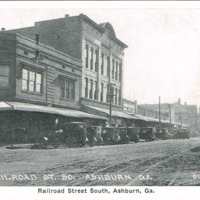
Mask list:
[[[61,79],[61,98],[75,99],[75,82],[67,79]]]

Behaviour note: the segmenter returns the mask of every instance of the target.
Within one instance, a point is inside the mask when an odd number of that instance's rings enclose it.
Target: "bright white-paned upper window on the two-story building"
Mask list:
[[[42,93],[42,73],[22,69],[22,90]]]

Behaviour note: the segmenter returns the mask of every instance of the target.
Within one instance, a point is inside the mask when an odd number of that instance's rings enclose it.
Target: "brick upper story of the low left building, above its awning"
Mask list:
[[[0,32],[0,45],[1,101],[80,107],[80,60],[18,34]]]

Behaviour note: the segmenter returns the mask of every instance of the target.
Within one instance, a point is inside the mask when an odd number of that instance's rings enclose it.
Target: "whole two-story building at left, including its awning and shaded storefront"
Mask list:
[[[80,111],[81,74],[80,59],[40,44],[38,35],[31,40],[1,31],[1,141],[11,141],[17,129],[30,137],[48,134],[57,119],[103,123],[105,118]]]

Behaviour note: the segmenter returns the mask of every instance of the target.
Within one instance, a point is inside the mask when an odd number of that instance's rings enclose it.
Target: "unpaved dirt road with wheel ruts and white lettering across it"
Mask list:
[[[2,146],[0,185],[200,185],[199,146],[200,138],[71,149]]]

